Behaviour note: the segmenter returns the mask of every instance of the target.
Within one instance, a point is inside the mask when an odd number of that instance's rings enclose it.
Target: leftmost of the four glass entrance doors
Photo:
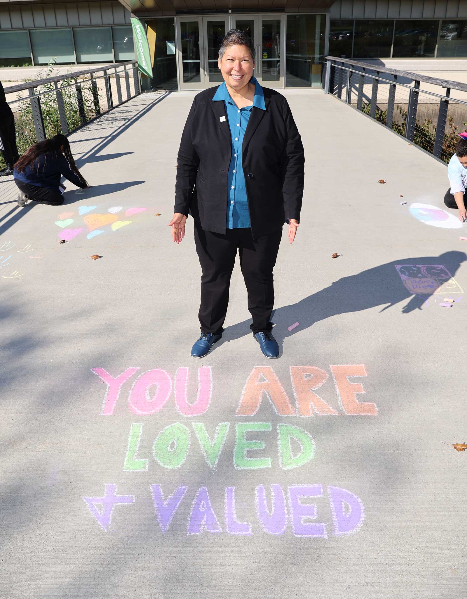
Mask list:
[[[177,17],[176,30],[180,89],[203,89],[202,17]]]

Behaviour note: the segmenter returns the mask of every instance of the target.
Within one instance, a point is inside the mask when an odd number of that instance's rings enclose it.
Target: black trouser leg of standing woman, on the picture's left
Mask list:
[[[202,269],[199,320],[201,332],[220,335],[227,313],[230,277],[237,255],[238,229],[225,235],[203,231],[195,222],[194,242]]]

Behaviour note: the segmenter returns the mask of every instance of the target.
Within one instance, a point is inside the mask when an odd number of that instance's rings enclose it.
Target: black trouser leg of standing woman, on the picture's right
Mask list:
[[[273,269],[282,238],[282,229],[261,235],[253,240],[251,229],[242,231],[240,243],[240,267],[248,291],[248,310],[253,318],[254,333],[270,331],[271,313],[274,307]]]

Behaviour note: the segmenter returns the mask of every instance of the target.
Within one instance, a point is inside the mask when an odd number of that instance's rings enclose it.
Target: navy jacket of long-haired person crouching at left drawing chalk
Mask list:
[[[29,183],[38,187],[48,187],[49,189],[59,189],[62,176],[83,189],[83,181],[81,181],[75,171],[71,170],[68,160],[60,151],[47,152],[38,156],[34,162],[25,168],[24,173],[19,173],[16,168],[13,172],[13,177],[23,181],[23,183]]]

